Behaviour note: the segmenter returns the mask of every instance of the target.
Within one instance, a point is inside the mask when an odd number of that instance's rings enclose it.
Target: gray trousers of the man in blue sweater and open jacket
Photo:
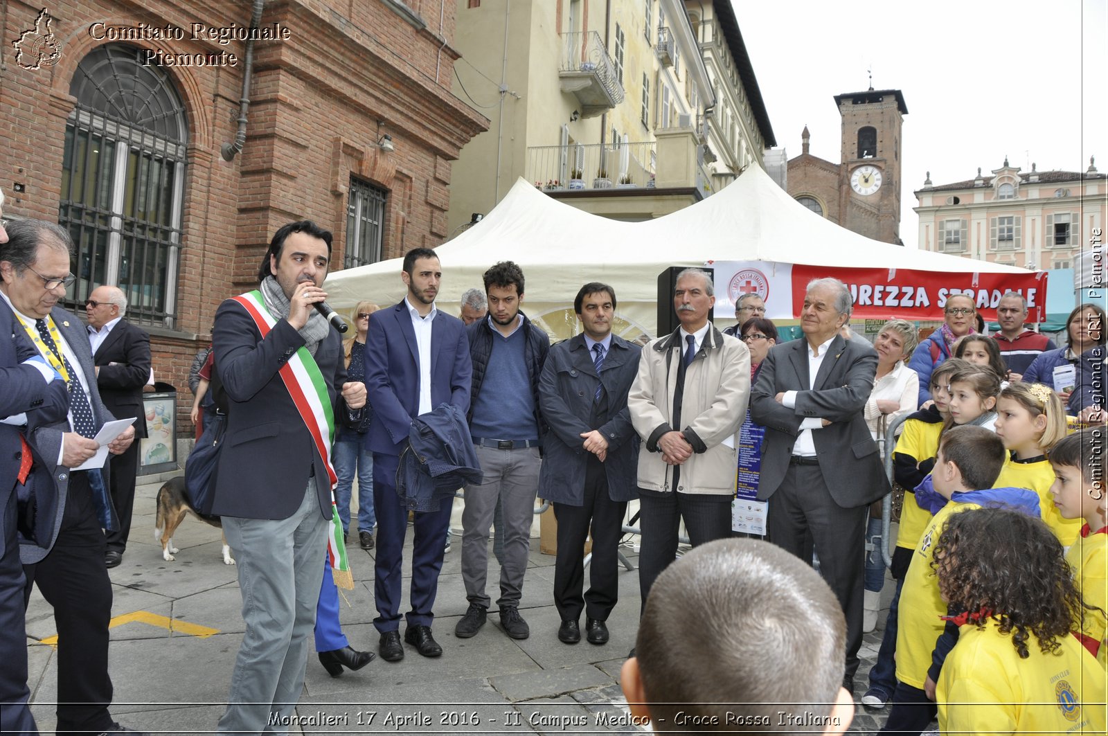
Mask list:
[[[489,529],[496,499],[504,508],[504,562],[500,568],[500,600],[496,605],[519,606],[523,596],[523,574],[531,552],[531,522],[538,493],[538,448],[497,450],[475,446],[484,479],[465,487],[462,511],[462,582],[470,603],[489,607],[485,594],[489,575]]]

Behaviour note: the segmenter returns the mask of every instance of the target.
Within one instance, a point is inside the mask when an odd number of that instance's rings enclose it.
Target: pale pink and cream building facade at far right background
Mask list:
[[[1073,268],[1108,218],[1108,181],[1085,172],[1022,173],[1008,160],[992,175],[915,192],[920,247],[1033,270]]]

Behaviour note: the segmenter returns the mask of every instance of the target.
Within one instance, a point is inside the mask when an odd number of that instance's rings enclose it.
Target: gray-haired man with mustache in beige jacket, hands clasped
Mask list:
[[[638,454],[643,606],[654,580],[677,556],[681,519],[694,546],[731,535],[750,351],[708,321],[715,304],[708,272],[686,268],[677,275],[674,308],[681,325],[643,348],[627,397],[645,450]]]

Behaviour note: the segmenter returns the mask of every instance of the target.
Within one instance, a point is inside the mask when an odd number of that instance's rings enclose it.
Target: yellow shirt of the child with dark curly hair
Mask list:
[[[999,624],[958,631],[936,683],[938,730],[956,734],[1104,735],[1105,671],[1080,642],[1066,636],[1056,654],[1027,642],[1020,660]],[[897,656],[900,652],[897,651]]]

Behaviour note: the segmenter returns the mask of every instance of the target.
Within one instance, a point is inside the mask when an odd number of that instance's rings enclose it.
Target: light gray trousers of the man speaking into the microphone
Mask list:
[[[316,481],[288,519],[224,517],[223,531],[235,550],[246,633],[218,732],[285,734],[280,719],[293,715],[304,691],[324,577],[327,521]],[[273,725],[270,713],[278,718]]]

